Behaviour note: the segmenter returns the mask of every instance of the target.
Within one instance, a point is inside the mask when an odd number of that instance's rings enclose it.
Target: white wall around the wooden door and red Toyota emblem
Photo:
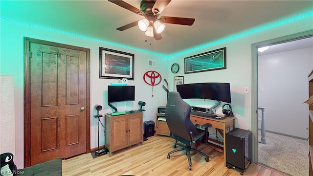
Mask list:
[[[24,84],[24,57],[23,57],[23,37],[41,39],[62,44],[75,45],[90,48],[90,148],[98,146],[97,120],[93,117],[97,113],[94,110],[96,104],[102,105],[100,114],[112,112],[107,105],[107,86],[113,79],[99,78],[99,47],[106,47],[123,52],[134,54],[134,81],[129,80],[129,85],[135,85],[135,101],[128,103],[117,103],[119,111],[137,110],[138,101],[146,102],[143,112],[143,121],[155,120],[158,106],[166,105],[166,92],[162,88],[165,84],[162,81],[154,87],[154,97],[151,97],[152,87],[143,81],[143,74],[149,70],[155,70],[163,78],[168,77],[168,62],[166,58],[159,55],[147,54],[129,48],[110,45],[99,41],[81,38],[57,31],[48,30],[32,25],[18,22],[10,22],[1,19],[1,75],[13,75],[15,79],[15,138],[16,151],[15,163],[18,168],[23,168],[24,157],[24,109],[23,109],[23,84]],[[156,67],[148,66],[147,59],[155,60]],[[115,80],[116,81],[116,80]],[[125,108],[126,107],[126,108]],[[103,118],[101,119],[103,121]],[[100,137],[103,135],[103,128],[100,126]],[[12,144],[14,145],[14,144]],[[104,145],[104,137],[100,138],[100,145]]]

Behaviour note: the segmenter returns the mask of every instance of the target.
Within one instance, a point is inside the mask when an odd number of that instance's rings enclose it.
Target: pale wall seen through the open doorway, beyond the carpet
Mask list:
[[[309,97],[312,65],[312,47],[258,57],[259,107],[266,108],[266,130],[308,137],[308,106],[303,102]]]

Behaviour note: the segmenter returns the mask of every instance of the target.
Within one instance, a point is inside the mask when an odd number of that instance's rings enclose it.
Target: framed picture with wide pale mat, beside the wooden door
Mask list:
[[[100,47],[99,78],[134,80],[134,54]]]

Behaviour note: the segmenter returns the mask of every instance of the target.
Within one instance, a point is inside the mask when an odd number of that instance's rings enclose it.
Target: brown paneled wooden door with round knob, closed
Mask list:
[[[89,152],[89,49],[28,44],[30,165]]]

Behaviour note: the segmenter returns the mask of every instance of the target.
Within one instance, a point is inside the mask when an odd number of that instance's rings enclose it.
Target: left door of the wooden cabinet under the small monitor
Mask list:
[[[127,141],[127,134],[128,134],[128,120],[127,116],[120,116],[120,117],[111,117],[111,150],[118,150],[124,148],[128,141]]]

